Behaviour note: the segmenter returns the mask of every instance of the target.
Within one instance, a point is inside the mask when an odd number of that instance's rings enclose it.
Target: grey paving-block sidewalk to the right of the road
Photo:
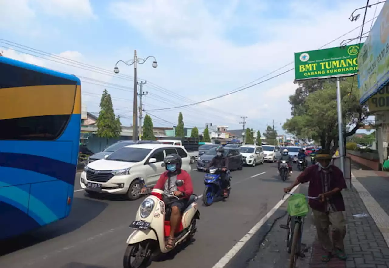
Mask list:
[[[359,175],[357,170],[353,170],[353,173]],[[389,268],[389,216],[354,176],[352,189],[343,190],[342,194],[346,205],[347,233],[344,242],[347,261],[333,257],[328,263],[323,263],[321,256],[324,252],[316,239],[309,267]],[[385,201],[389,203],[389,195]],[[354,216],[363,213],[368,216]]]

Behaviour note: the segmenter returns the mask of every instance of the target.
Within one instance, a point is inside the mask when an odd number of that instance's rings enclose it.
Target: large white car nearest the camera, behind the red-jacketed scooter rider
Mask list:
[[[135,200],[140,197],[140,179],[147,186],[156,184],[166,171],[162,163],[169,154],[179,154],[182,169],[191,171],[190,157],[183,146],[133,144],[85,166],[80,177],[81,187],[89,194],[124,194]]]

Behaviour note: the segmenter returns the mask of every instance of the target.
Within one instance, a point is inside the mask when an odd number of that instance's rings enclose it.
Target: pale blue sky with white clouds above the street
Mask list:
[[[348,18],[364,4],[364,0],[4,0],[0,39],[7,41],[0,40],[0,50],[5,56],[79,75],[90,112],[98,112],[100,95],[107,88],[116,113],[130,125],[133,68],[119,65],[121,75],[111,70],[117,60],[130,60],[134,49],[141,58],[153,55],[158,61],[156,69],[152,61],[138,68],[138,76],[148,81],[144,109],[185,105],[243,86],[293,61],[294,52],[317,49],[357,27],[362,18],[357,22]],[[367,20],[374,11],[368,10]],[[376,16],[379,11],[380,6]],[[370,23],[366,25],[370,28]],[[356,30],[327,47],[358,34]],[[213,123],[237,129],[239,117],[247,116],[248,127],[264,131],[274,119],[282,132],[294,89],[289,72],[217,101],[150,113],[155,126],[171,126],[181,111],[188,127]]]

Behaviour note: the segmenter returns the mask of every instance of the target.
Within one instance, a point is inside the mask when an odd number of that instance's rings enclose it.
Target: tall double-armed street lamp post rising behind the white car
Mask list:
[[[132,140],[136,141],[138,139],[138,78],[137,78],[137,65],[145,63],[149,58],[153,58],[151,66],[153,68],[157,68],[158,64],[154,56],[148,56],[145,59],[138,58],[137,50],[134,51],[134,58],[128,61],[119,60],[119,62],[123,62],[125,65],[131,66],[134,65],[134,101],[133,101],[133,115],[132,115]],[[117,67],[117,63],[114,68],[114,73],[119,74],[119,68]]]

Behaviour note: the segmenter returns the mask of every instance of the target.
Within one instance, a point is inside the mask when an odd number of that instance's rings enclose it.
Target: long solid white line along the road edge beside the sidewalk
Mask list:
[[[293,187],[293,189],[290,191],[293,193],[296,191],[296,189],[299,187],[299,185]],[[256,234],[256,232],[263,226],[263,224],[276,212],[276,210],[289,198],[289,194],[286,195],[283,199],[281,199],[266,215],[263,217],[257,224],[254,225],[253,228],[245,235],[243,236],[233,247],[230,249],[230,251],[227,252],[226,255],[224,255],[212,268],[223,268],[227,265],[227,263],[238,253],[240,249],[247,243],[247,241],[250,240],[252,236]]]

